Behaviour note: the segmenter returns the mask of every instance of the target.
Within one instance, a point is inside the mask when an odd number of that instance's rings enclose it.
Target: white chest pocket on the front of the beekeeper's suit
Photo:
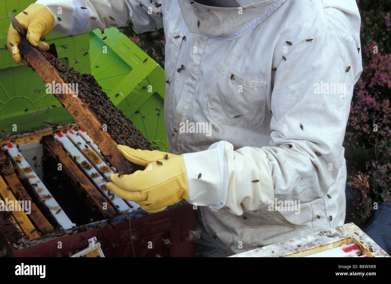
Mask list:
[[[217,123],[256,128],[265,118],[266,83],[248,81],[221,64],[210,84],[208,111]]]

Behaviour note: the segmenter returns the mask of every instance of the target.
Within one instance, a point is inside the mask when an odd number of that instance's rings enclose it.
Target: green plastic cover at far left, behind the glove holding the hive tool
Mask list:
[[[46,92],[47,88],[41,77],[23,64],[17,65],[9,50],[5,48],[11,23],[8,12],[17,15],[34,2],[0,0],[0,130],[5,130],[9,134],[48,127],[43,123],[46,120],[58,124],[74,121],[59,101],[51,93]],[[91,72],[89,56],[83,57],[90,49],[88,34],[48,34],[46,42],[49,45],[55,43],[61,62],[74,67],[77,71]],[[0,135],[4,133],[0,132]]]

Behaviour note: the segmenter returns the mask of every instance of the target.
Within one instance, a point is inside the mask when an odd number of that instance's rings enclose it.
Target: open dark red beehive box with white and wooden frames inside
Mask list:
[[[48,139],[48,137],[53,137],[53,139]],[[54,139],[61,149],[50,144],[54,142]],[[40,141],[42,144],[39,143]],[[50,149],[46,144],[50,144]],[[86,240],[94,237],[99,241],[106,257],[192,256],[193,240],[190,234],[190,231],[194,230],[192,205],[181,202],[154,214],[142,211],[134,202],[130,202],[133,206],[129,206],[130,203],[122,205],[120,203],[122,199],[114,198],[113,193],[109,193],[107,188],[104,188],[107,182],[105,177],[110,174],[110,170],[99,171],[98,168],[102,168],[102,159],[99,161],[90,159],[91,155],[83,151],[85,145],[88,145],[91,151],[99,153],[99,149],[95,149],[95,145],[85,137],[85,133],[74,125],[67,125],[65,128],[56,130],[34,131],[19,138],[12,137],[2,141],[7,159],[13,161],[14,173],[5,172],[2,166],[0,199],[4,200],[5,196],[11,198],[14,185],[9,183],[9,176],[10,174],[16,175],[29,193],[31,200],[37,204],[45,217],[51,214],[56,218],[54,221],[47,218],[54,231],[44,232],[43,225],[34,223],[31,215],[26,216],[24,212],[9,214],[7,211],[0,211],[0,248],[3,256],[68,257],[87,248]],[[47,148],[46,151],[52,151],[52,154],[45,154],[45,148]],[[77,150],[79,150],[78,153]],[[64,172],[56,176],[52,175],[50,171],[56,170],[53,164],[48,163],[49,156],[61,160]],[[3,163],[4,159],[0,162]],[[74,163],[76,167],[69,163]],[[86,164],[90,166],[87,167]],[[81,171],[88,179],[80,178]],[[27,173],[28,180],[23,179],[23,172]],[[78,185],[66,185],[61,180],[63,177],[74,180],[77,176],[80,181]],[[47,182],[53,177],[56,179]],[[32,182],[36,184],[31,184]],[[12,190],[5,188],[6,186],[11,186]],[[95,189],[93,189],[94,186]],[[84,191],[86,196],[83,196],[83,187],[88,189]],[[99,189],[102,195],[96,189]],[[65,195],[55,194],[56,190],[64,191]],[[95,191],[93,195],[91,195],[91,190]],[[72,215],[75,209],[72,207],[75,206],[72,202],[75,192],[82,193],[77,197],[79,203],[77,206],[81,209],[77,214],[85,216]],[[38,200],[39,196],[43,197],[41,202]],[[88,196],[98,201],[106,198],[106,202],[111,204],[111,208],[114,208],[116,212],[113,213],[112,209],[110,209],[111,212],[100,211],[107,215],[102,219],[101,214],[91,211],[94,205],[93,200],[88,199]],[[53,203],[54,201],[57,203]],[[47,212],[49,209],[51,212]],[[20,214],[24,214],[24,217],[22,218]],[[59,218],[61,214],[65,214],[62,219]],[[89,220],[90,216],[93,216],[91,220]],[[64,222],[66,217],[69,217],[73,224]]]

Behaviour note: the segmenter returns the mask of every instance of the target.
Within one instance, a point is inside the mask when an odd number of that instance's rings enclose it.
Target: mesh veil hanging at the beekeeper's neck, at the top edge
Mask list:
[[[285,0],[178,0],[189,32],[228,36],[272,13]]]

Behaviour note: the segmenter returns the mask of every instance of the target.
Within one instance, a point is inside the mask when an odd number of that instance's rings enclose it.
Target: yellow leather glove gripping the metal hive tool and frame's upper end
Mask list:
[[[26,39],[31,45],[39,46],[44,50],[49,49],[49,45],[39,39],[49,34],[54,25],[54,15],[47,7],[42,4],[31,4],[22,13],[15,16],[16,20],[27,29]],[[18,44],[22,40],[22,35],[13,29],[12,24],[9,25],[7,47],[17,64],[21,62],[27,65],[27,60],[22,58],[19,53]]]

